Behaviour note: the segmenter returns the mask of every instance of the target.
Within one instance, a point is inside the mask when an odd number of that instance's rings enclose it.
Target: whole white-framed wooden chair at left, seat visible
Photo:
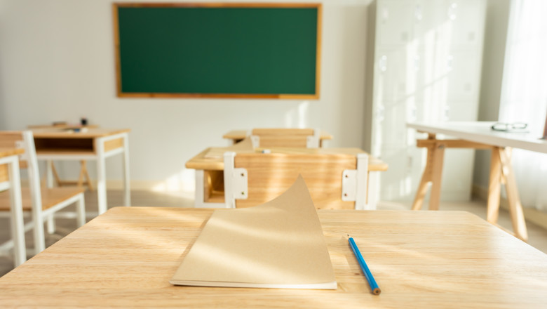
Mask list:
[[[32,222],[25,224],[25,232],[34,228],[35,254],[46,247],[43,232],[43,222],[60,209],[76,203],[76,223],[80,227],[86,223],[86,212],[83,202],[82,188],[40,188],[40,176],[38,160],[32,131],[0,132],[0,145],[16,146],[25,149],[25,154],[20,158],[20,168],[27,169],[29,188],[22,188],[23,211],[32,213]],[[8,192],[0,192],[0,215],[10,210]],[[4,248],[13,246],[13,242],[6,242]]]

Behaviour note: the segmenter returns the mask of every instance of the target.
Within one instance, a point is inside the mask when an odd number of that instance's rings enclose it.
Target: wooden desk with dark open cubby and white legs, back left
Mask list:
[[[67,129],[32,129],[36,156],[47,161],[48,186],[53,185],[51,162],[95,160],[97,161],[97,203],[99,213],[107,211],[106,164],[108,157],[123,154],[123,202],[130,206],[129,191],[129,129],[97,129],[73,132]]]

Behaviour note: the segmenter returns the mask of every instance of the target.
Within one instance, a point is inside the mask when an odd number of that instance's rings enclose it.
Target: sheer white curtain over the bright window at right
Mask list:
[[[547,0],[512,0],[499,121],[543,135],[547,113]],[[513,150],[523,206],[547,211],[547,155]]]

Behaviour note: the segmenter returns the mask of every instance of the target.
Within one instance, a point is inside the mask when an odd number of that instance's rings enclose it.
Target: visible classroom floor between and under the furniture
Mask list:
[[[123,192],[117,190],[109,190],[107,194],[109,207],[123,206]],[[191,207],[194,204],[193,195],[169,195],[163,192],[139,191],[131,192],[131,201],[133,206],[164,206],[164,207]],[[407,204],[395,202],[380,202],[378,209],[410,209],[410,202]],[[475,213],[480,218],[486,218],[485,202],[473,200],[471,202],[441,202],[440,209],[442,210],[458,210]],[[97,195],[95,192],[86,192],[86,210],[97,211]],[[26,220],[25,220],[26,221]],[[65,237],[76,228],[75,219],[57,219],[57,230],[54,234],[46,233],[46,246],[57,242],[62,237]],[[511,230],[511,219],[508,212],[501,210],[499,214],[499,225],[508,230]],[[527,222],[529,241],[528,243],[537,249],[547,254],[547,230]],[[32,231],[26,235],[27,248],[32,251],[33,239]],[[10,239],[9,219],[0,218],[0,244]],[[32,255],[27,256],[31,258]],[[5,275],[13,269],[13,258],[9,254],[0,256],[0,276]]]

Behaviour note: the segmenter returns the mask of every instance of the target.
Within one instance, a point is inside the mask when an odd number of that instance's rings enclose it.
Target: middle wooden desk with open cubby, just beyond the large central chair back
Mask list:
[[[357,155],[363,153],[358,148],[285,148],[269,147],[271,152],[278,153],[342,153],[348,155]],[[200,152],[195,157],[186,162],[187,169],[196,170],[196,207],[218,207],[225,208],[224,204],[224,158],[205,157],[210,148]],[[261,148],[257,148],[260,152]],[[367,203],[372,209],[376,208],[377,197],[375,195],[377,178],[380,171],[387,171],[388,165],[380,159],[369,157],[368,163],[368,194]]]

